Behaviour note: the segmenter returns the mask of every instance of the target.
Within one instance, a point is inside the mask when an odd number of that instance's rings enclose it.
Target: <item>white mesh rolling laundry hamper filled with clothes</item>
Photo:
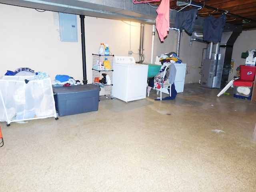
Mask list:
[[[0,121],[10,122],[47,118],[56,120],[55,102],[50,78],[2,76],[0,78]]]

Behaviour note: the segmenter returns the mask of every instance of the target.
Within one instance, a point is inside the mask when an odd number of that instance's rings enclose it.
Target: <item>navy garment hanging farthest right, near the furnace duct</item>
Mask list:
[[[219,18],[214,18],[214,16],[209,15],[204,20],[203,39],[213,43],[220,42],[225,22],[225,14],[222,14]]]

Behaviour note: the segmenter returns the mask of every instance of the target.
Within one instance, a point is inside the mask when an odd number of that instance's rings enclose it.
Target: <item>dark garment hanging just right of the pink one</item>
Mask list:
[[[174,22],[174,28],[180,30],[184,29],[189,34],[192,34],[195,26],[196,17],[197,9],[177,12]]]

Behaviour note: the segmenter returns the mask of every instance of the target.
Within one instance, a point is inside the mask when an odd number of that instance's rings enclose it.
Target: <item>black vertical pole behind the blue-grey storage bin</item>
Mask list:
[[[87,84],[86,77],[86,58],[85,58],[85,33],[84,33],[84,15],[80,15],[81,37],[82,37],[82,62],[83,62],[83,84]]]

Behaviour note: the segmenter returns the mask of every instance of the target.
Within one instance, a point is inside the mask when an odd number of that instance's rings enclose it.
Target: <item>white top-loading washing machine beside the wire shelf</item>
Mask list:
[[[114,98],[125,102],[146,98],[148,65],[136,64],[134,57],[114,56],[113,90]]]

